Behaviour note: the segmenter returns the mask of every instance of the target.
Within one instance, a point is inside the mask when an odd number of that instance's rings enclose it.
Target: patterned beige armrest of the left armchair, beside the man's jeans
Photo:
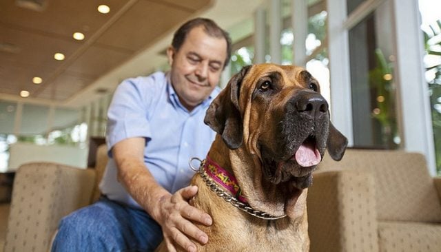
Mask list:
[[[90,203],[95,172],[50,162],[16,174],[5,251],[48,251],[59,220]]]

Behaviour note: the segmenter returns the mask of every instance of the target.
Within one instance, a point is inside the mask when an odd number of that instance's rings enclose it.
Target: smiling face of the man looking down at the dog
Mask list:
[[[196,27],[187,34],[178,51],[168,48],[167,56],[172,65],[174,90],[179,101],[191,111],[216,87],[227,57],[227,41]]]

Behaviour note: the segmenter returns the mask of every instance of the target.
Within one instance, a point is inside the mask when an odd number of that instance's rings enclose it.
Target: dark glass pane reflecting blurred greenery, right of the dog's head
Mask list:
[[[379,9],[382,7],[380,6]],[[355,147],[396,149],[396,83],[389,17],[373,12],[349,30]]]

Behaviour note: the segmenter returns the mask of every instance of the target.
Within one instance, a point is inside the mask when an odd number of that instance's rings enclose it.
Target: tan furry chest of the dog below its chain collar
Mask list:
[[[200,178],[194,180],[196,185]],[[213,224],[196,224],[207,233],[209,242],[198,251],[309,251],[307,216],[292,220],[260,220],[240,211],[216,196],[205,185],[191,203],[212,216]]]

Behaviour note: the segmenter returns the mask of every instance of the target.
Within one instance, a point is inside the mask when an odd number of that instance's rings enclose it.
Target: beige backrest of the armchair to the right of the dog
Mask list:
[[[441,222],[441,204],[422,154],[348,149],[340,162],[323,158],[318,172],[356,169],[375,180],[378,220]]]

